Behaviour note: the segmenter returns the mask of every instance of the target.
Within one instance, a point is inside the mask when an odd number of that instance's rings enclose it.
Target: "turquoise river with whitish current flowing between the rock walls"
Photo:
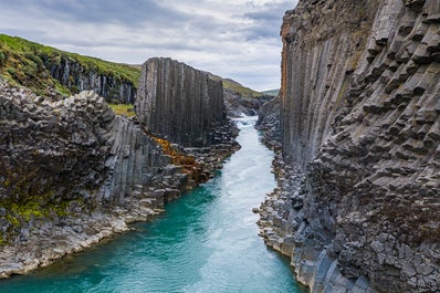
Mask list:
[[[259,142],[254,123],[238,119],[242,148],[161,217],[33,274],[0,281],[0,292],[304,292],[289,260],[258,237],[252,208],[276,184],[273,153]]]

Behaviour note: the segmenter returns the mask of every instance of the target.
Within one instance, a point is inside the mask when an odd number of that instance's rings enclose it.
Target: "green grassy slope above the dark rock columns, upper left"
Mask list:
[[[0,75],[13,84],[24,85],[44,95],[49,88],[63,94],[71,91],[51,76],[51,67],[60,66],[61,60],[81,64],[85,72],[96,72],[125,80],[137,86],[139,67],[103,61],[64,52],[18,36],[0,34]]]

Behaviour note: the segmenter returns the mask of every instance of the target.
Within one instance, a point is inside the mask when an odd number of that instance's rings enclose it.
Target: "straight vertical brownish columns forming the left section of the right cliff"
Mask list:
[[[284,17],[280,95],[289,161],[305,167],[328,138],[377,6],[378,1],[300,1]]]

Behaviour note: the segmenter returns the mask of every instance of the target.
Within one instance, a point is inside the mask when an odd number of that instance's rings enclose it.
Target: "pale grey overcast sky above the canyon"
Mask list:
[[[0,0],[0,32],[108,61],[169,56],[258,91],[280,87],[296,0]]]

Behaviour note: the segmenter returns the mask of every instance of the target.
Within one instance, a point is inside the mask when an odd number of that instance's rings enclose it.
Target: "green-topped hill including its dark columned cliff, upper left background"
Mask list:
[[[71,95],[99,87],[96,92],[109,100],[129,101],[136,94],[140,69],[0,34],[0,75],[39,95],[50,91]],[[124,91],[128,97],[118,96]]]

